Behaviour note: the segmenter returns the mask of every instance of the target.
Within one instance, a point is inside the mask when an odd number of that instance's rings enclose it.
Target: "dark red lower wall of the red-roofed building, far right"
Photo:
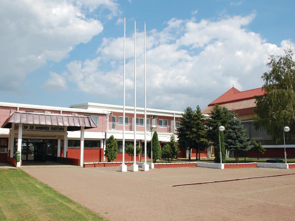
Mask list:
[[[295,148],[286,148],[287,158],[295,158]],[[249,157],[257,157],[257,153],[249,151],[247,153]],[[259,154],[259,157],[276,157],[284,158],[284,148],[266,148],[264,154]]]

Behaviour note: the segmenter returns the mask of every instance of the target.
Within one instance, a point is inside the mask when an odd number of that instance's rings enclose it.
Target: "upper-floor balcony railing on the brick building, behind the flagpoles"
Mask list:
[[[147,125],[147,131],[151,131],[150,124]],[[157,128],[154,131],[157,131],[159,133],[174,133],[174,127],[173,126],[161,126],[156,125]],[[123,130],[123,124],[118,122],[109,122],[109,131],[122,131]],[[125,123],[125,131],[134,131],[134,125],[132,123]],[[144,125],[137,124],[136,125],[136,131],[145,131]]]

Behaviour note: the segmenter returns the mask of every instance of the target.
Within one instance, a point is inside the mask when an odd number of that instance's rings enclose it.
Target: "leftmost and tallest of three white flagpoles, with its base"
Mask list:
[[[125,33],[126,33],[126,16],[124,17],[124,65],[123,65],[123,147],[122,147],[122,165],[120,171],[126,172],[127,165],[125,165]]]

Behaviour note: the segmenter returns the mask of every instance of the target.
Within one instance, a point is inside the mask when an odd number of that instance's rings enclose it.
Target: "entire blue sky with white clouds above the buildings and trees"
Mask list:
[[[1,102],[68,107],[202,109],[229,90],[263,85],[269,55],[295,46],[294,1],[0,0]]]

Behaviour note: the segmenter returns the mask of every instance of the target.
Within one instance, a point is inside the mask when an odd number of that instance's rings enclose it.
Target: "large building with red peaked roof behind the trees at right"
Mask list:
[[[211,114],[214,105],[226,107],[228,110],[235,111],[237,118],[241,120],[244,128],[247,130],[248,136],[252,140],[260,141],[266,152],[260,154],[262,157],[284,157],[284,145],[275,145],[271,137],[269,137],[266,131],[256,131],[253,125],[252,117],[255,115],[255,98],[254,96],[263,95],[262,88],[256,88],[252,90],[239,91],[232,87],[216,100],[212,101],[207,108],[205,108],[203,114]],[[283,131],[282,131],[283,136]],[[287,157],[295,157],[295,140],[286,141],[286,153]],[[248,156],[257,156],[257,153],[252,151],[248,152]]]

